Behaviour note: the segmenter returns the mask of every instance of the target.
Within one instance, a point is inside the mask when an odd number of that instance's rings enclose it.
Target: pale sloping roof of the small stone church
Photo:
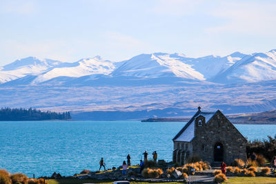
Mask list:
[[[197,119],[198,116],[204,116],[206,124],[210,119],[216,114],[217,112],[201,112],[200,108],[195,113],[192,119],[188,121],[188,123],[180,130],[180,132],[175,136],[172,141],[184,141],[184,142],[190,142],[195,137],[195,119]]]

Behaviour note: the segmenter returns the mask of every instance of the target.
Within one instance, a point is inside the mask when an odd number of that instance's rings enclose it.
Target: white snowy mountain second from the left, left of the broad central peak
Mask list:
[[[59,76],[81,77],[91,74],[110,74],[115,70],[115,64],[101,57],[81,59],[75,63],[63,63],[43,74],[39,74],[32,83],[41,83]]]

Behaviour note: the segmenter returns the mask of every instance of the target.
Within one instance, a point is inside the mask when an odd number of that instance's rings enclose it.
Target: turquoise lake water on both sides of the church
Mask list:
[[[130,154],[139,163],[148,150],[172,160],[172,138],[185,123],[140,121],[19,121],[0,122],[0,168],[28,176],[69,176],[81,170],[119,166]],[[248,139],[274,136],[276,125],[235,125]]]

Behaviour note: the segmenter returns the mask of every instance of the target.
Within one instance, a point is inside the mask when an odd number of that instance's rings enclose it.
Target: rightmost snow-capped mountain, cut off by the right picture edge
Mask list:
[[[217,83],[246,83],[276,79],[276,50],[255,53],[237,61],[230,68],[217,74]]]

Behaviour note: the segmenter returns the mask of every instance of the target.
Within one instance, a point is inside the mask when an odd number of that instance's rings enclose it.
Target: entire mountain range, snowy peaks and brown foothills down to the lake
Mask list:
[[[159,52],[119,62],[27,57],[0,68],[0,103],[70,110],[73,119],[74,113],[79,119],[184,116],[197,105],[262,112],[276,108],[275,80],[276,50],[199,58]]]

